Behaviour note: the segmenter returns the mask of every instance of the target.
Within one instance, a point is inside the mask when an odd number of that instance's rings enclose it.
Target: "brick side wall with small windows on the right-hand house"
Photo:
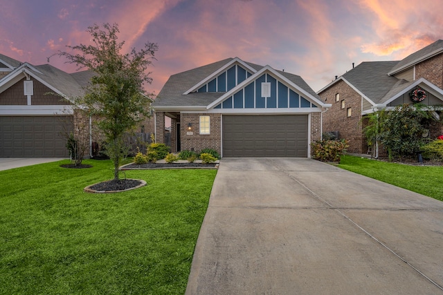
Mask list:
[[[339,94],[338,102],[336,102],[336,93]],[[368,147],[365,144],[360,122],[361,95],[343,81],[327,88],[319,95],[328,104],[332,104],[332,107],[323,113],[323,132],[338,131],[340,139],[350,141],[347,151],[367,153]],[[342,100],[344,100],[344,108],[341,107]],[[347,117],[347,108],[352,110],[350,117]]]

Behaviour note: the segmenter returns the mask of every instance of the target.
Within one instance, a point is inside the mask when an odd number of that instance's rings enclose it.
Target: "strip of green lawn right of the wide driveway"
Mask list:
[[[413,166],[352,155],[344,155],[338,166],[443,201],[443,166]]]

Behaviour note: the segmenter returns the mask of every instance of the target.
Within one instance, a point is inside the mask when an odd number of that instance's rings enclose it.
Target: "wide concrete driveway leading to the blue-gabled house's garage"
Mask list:
[[[220,161],[186,294],[442,286],[443,202],[315,160],[233,158]]]

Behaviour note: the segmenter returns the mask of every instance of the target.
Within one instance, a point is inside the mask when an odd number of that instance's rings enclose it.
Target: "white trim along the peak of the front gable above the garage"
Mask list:
[[[257,79],[257,77],[260,77],[260,75],[269,74],[269,73],[271,73],[275,77],[277,77],[277,80],[280,79],[280,82],[282,82],[282,84],[284,84],[285,86],[295,89],[296,90],[295,92],[297,92],[299,96],[303,95],[303,97],[305,97],[310,102],[314,102],[314,104],[318,104],[319,106],[322,106],[325,108],[330,108],[332,106],[332,104],[325,104],[324,102],[320,101],[320,99],[317,99],[316,97],[314,97],[313,95],[311,95],[310,93],[305,91],[304,89],[300,88],[300,86],[291,82],[289,79],[287,79],[287,77],[284,77],[283,75],[278,73],[276,70],[271,68],[271,66],[264,66],[261,70],[257,71],[253,75],[251,75],[251,77],[244,80],[242,83],[238,84],[237,86],[232,88],[230,91],[228,91],[224,95],[221,95],[221,97],[219,97],[218,99],[215,99],[214,102],[211,102],[210,104],[208,104],[208,106],[206,108],[208,108],[208,109],[214,108],[215,106],[217,106],[217,104],[223,102],[226,98],[232,96],[234,93],[236,93],[240,89],[242,89],[245,86],[247,86],[248,84],[250,84],[251,81],[255,81],[255,79]],[[266,78],[266,81],[267,81],[267,78]]]

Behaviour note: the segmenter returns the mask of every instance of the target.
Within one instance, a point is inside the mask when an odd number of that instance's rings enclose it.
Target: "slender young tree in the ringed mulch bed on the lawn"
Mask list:
[[[157,44],[146,43],[136,51],[123,54],[124,41],[118,41],[118,25],[97,24],[88,27],[92,45],[67,46],[78,54],[59,52],[68,63],[79,69],[87,68],[96,75],[85,89],[85,95],[75,103],[86,108],[90,116],[99,117],[98,128],[107,142],[107,155],[114,162],[114,180],[118,180],[118,167],[125,156],[123,135],[134,129],[138,122],[148,115],[148,96],[143,84],[150,84],[152,78],[147,67],[152,64]]]

